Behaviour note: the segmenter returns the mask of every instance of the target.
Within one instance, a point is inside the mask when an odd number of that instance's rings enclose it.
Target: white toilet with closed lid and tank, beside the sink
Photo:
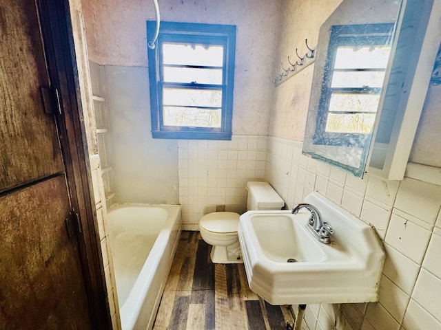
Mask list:
[[[247,210],[280,210],[285,201],[267,182],[247,183]],[[237,228],[240,214],[236,212],[213,212],[199,221],[202,239],[213,245],[210,254],[213,263],[243,263]]]

